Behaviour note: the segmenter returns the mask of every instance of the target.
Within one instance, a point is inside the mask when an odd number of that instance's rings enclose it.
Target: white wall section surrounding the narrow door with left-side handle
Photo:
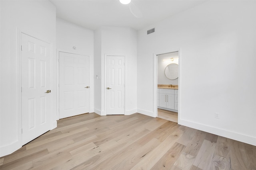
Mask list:
[[[137,31],[129,27],[101,27],[95,31],[97,41],[95,45],[95,74],[101,75],[100,80],[95,80],[95,100],[101,104],[95,106],[95,112],[101,115],[106,114],[104,103],[105,90],[105,55],[124,55],[125,64],[125,114],[136,113],[137,108]],[[101,54],[99,53],[101,52]],[[96,66],[97,65],[97,66]],[[99,68],[99,65],[101,66]],[[101,69],[100,72],[98,69]],[[96,89],[97,88],[97,89]],[[100,92],[99,92],[100,91]]]

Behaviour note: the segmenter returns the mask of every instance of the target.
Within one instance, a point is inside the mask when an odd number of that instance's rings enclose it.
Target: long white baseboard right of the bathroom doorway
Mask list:
[[[192,122],[184,119],[179,119],[178,124],[256,146],[256,138],[252,136],[227,131],[225,129],[219,129],[216,127],[211,127],[209,125],[204,125],[201,123]]]

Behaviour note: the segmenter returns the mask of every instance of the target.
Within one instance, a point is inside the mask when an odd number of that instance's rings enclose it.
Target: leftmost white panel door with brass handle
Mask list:
[[[50,44],[23,33],[21,41],[24,145],[50,130]]]

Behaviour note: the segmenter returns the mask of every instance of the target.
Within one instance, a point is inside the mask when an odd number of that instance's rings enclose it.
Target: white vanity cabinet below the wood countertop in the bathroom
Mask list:
[[[178,112],[178,90],[158,89],[158,108]]]

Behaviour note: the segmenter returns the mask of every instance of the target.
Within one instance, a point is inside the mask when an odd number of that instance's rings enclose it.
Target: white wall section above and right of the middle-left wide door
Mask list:
[[[94,112],[94,31],[56,18],[56,47],[57,51],[90,56],[90,112]]]

